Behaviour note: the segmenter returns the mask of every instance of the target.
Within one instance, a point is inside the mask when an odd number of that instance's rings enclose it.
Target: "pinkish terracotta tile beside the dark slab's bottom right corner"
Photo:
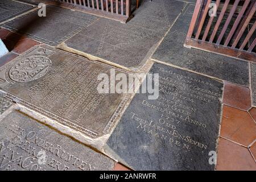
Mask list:
[[[217,170],[256,170],[256,163],[246,147],[220,138]]]

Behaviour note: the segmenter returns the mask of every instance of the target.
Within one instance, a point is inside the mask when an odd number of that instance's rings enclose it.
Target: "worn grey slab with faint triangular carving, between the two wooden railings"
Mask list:
[[[126,24],[100,19],[65,43],[68,47],[130,69],[140,68],[183,7],[173,0],[142,1]]]

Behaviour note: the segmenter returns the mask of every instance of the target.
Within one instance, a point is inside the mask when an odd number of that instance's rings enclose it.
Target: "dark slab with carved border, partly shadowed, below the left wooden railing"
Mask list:
[[[48,5],[46,17],[39,17],[38,11],[33,11],[3,24],[2,27],[56,46],[96,19],[97,17],[93,15]]]

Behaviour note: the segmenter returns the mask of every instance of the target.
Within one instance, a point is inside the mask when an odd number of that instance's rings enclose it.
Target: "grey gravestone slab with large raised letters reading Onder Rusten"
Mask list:
[[[0,171],[101,171],[114,161],[48,126],[12,111],[0,121]]]

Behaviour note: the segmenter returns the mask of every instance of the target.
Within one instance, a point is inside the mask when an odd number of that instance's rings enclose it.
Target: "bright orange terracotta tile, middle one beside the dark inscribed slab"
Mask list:
[[[256,123],[246,111],[224,105],[221,136],[249,146],[256,139]]]

